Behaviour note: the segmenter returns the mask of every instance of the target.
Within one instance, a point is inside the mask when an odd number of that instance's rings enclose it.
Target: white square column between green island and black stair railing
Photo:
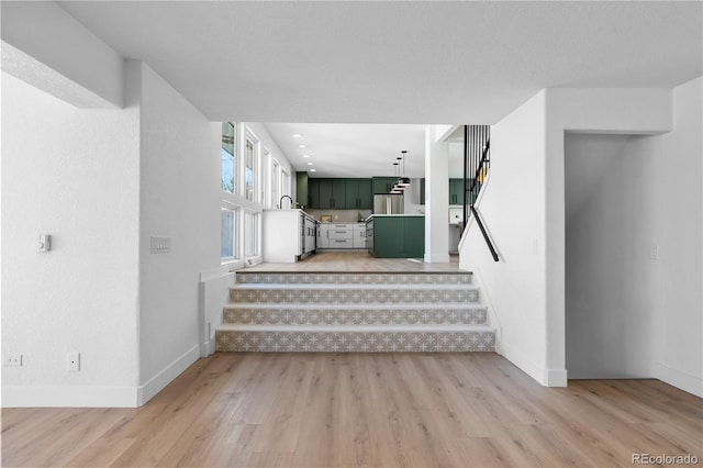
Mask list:
[[[425,130],[425,261],[449,261],[449,148]]]

